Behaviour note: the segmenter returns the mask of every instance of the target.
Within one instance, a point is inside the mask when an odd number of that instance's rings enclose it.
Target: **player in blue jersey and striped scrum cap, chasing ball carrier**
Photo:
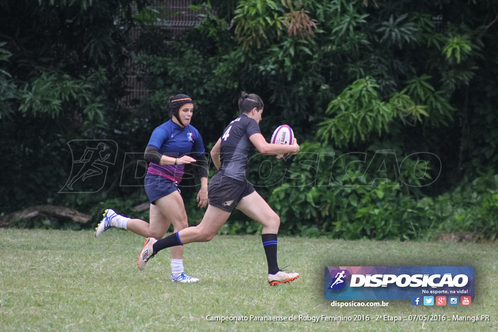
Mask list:
[[[188,227],[187,213],[178,183],[185,164],[195,162],[201,179],[197,194],[200,208],[208,203],[208,163],[204,143],[199,131],[190,124],[194,110],[192,99],[183,94],[170,98],[171,119],[154,129],[144,152],[149,162],[145,175],[145,193],[150,201],[149,222],[118,215],[111,209],[104,212],[104,219],[95,231],[95,237],[111,227],[121,227],[153,238],[162,238],[173,224],[174,231]],[[190,155],[194,156],[191,157]],[[171,280],[197,282],[184,272],[183,246],[171,247]]]

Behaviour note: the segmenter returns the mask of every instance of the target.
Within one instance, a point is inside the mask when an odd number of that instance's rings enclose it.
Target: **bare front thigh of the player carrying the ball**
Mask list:
[[[237,205],[237,209],[263,226],[278,226],[280,224],[280,218],[275,211],[255,191],[244,197]]]

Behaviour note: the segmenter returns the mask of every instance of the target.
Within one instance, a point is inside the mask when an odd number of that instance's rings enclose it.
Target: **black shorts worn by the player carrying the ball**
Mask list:
[[[209,205],[232,212],[244,197],[254,191],[249,182],[235,180],[218,173],[209,181]]]

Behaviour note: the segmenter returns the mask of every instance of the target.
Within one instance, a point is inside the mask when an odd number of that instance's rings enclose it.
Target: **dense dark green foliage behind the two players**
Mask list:
[[[0,1],[0,213],[50,203],[97,216],[102,205],[143,203],[140,179],[120,179],[140,159],[127,163],[127,153],[141,153],[167,119],[168,97],[195,99],[209,150],[247,91],[265,102],[263,135],[287,123],[302,144],[285,161],[252,160],[250,180],[283,232],[497,236],[495,1],[194,2],[202,24],[173,38],[150,23],[160,14],[148,1]],[[150,94],[125,107],[129,59]],[[74,139],[118,145],[92,195],[60,193]],[[184,195],[198,221],[193,184]],[[224,232],[258,229],[233,219]]]

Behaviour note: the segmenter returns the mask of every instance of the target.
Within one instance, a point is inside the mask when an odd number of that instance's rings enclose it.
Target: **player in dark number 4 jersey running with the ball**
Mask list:
[[[204,218],[196,227],[184,228],[163,239],[147,238],[138,257],[140,270],[162,249],[191,242],[210,241],[234,209],[239,209],[263,226],[261,238],[268,263],[267,280],[270,286],[287,283],[299,277],[298,273],[287,273],[278,267],[277,232],[280,218],[247,179],[249,154],[254,147],[260,153],[268,155],[299,152],[295,139],[292,145],[266,142],[258,125],[263,106],[259,96],[242,93],[239,99],[240,116],[230,122],[211,150],[211,157],[219,172],[209,182],[209,206]]]

